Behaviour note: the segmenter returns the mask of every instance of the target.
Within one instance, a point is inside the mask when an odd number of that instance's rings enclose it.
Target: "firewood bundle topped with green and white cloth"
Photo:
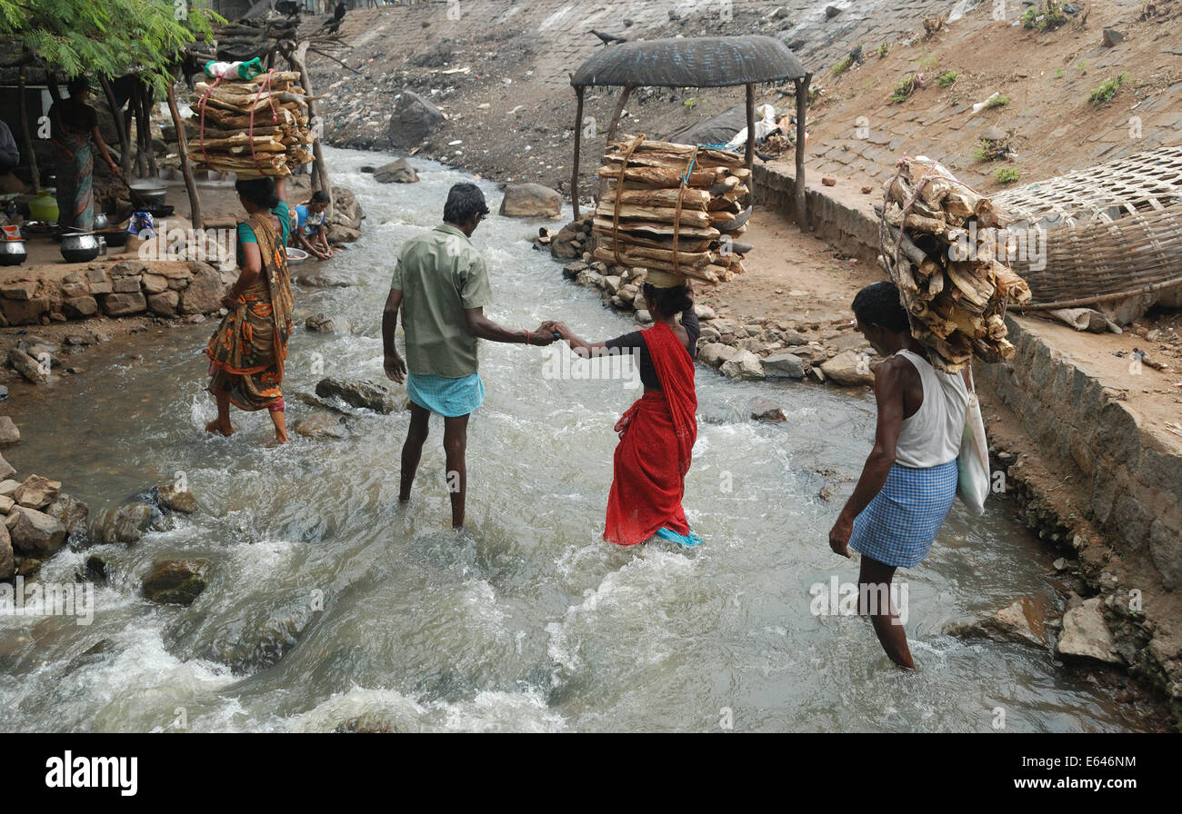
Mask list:
[[[189,161],[240,177],[281,177],[312,161],[307,97],[294,71],[199,82],[187,123]]]

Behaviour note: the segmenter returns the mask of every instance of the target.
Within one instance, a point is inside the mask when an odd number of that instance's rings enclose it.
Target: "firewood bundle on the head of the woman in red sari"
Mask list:
[[[742,207],[749,175],[728,150],[650,142],[643,134],[609,144],[595,258],[644,267],[654,285],[729,280],[751,250],[736,240],[751,217]]]

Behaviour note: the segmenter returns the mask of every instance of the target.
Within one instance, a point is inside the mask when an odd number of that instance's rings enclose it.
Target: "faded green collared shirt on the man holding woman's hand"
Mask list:
[[[466,308],[492,305],[488,269],[467,235],[443,223],[402,245],[390,287],[402,292],[407,369],[457,379],[476,372]]]

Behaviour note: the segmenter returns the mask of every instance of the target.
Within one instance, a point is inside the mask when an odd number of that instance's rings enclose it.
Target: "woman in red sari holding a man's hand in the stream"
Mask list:
[[[561,323],[552,327],[579,356],[634,349],[639,357],[644,395],[616,424],[619,444],[603,539],[634,546],[658,536],[695,546],[702,539],[690,530],[681,501],[697,438],[694,351],[701,328],[688,282],[669,287],[645,284],[643,294],[652,315],[652,327],[645,331],[591,344]]]

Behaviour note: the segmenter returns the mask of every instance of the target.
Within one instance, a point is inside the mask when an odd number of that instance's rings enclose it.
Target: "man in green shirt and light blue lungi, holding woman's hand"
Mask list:
[[[469,237],[487,215],[485,195],[476,184],[452,187],[442,226],[403,243],[382,314],[385,375],[392,382],[405,379],[410,397],[410,429],[402,447],[398,500],[410,500],[410,487],[427,441],[427,421],[430,413],[439,413],[443,416],[453,528],[463,527],[468,416],[485,401],[485,385],[476,372],[476,340],[539,347],[554,341],[554,334],[540,327],[511,331],[485,315],[485,307],[492,305],[488,269]],[[405,327],[405,362],[394,341],[400,308]]]

